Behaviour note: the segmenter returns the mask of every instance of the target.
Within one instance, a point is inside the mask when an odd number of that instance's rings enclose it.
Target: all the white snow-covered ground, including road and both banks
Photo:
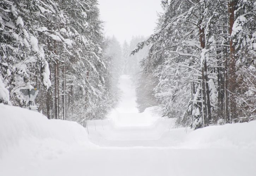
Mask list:
[[[87,128],[0,105],[0,176],[255,176],[256,121],[175,129],[157,107],[138,113],[129,77],[119,86],[119,106]]]

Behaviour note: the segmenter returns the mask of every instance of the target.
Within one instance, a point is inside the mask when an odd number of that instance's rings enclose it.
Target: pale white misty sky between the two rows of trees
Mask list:
[[[107,36],[119,42],[132,36],[149,36],[156,26],[157,14],[162,12],[161,0],[98,0],[101,19]]]

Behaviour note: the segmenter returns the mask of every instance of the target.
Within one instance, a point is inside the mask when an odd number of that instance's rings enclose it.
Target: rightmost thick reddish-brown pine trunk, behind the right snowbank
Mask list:
[[[230,14],[230,29],[229,33],[232,34],[232,27],[234,24],[234,0],[230,0],[228,2],[228,12]],[[237,116],[237,104],[236,104],[236,89],[237,89],[237,83],[236,83],[236,57],[235,57],[235,46],[233,44],[232,37],[230,36],[230,59],[229,59],[229,76],[228,76],[228,91],[230,94],[230,118],[235,119]]]

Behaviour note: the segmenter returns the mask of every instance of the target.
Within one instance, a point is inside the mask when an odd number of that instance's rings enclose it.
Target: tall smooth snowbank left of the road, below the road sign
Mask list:
[[[38,146],[89,145],[87,132],[76,122],[48,120],[38,112],[3,104],[0,104],[0,141],[0,157],[12,147],[30,150]]]

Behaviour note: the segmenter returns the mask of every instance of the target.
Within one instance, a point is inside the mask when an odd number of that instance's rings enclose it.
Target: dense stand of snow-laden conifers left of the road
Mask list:
[[[24,106],[19,89],[32,85],[48,118],[81,124],[98,112],[102,118],[109,89],[97,1],[1,1],[0,7],[1,80],[12,104]]]

